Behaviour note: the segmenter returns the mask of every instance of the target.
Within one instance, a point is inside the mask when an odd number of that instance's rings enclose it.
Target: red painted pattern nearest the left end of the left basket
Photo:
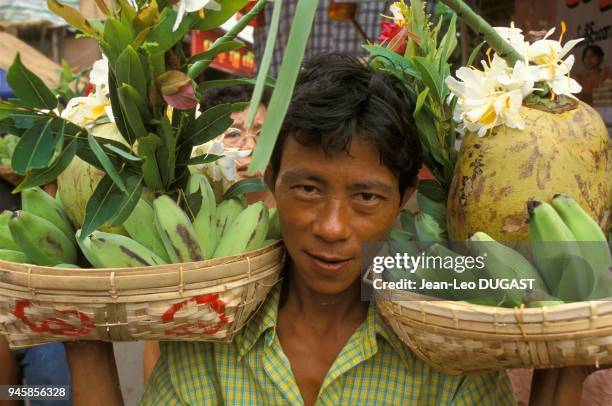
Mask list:
[[[76,316],[81,321],[81,326],[73,326],[70,323],[66,323],[64,320],[60,320],[55,317],[47,318],[41,322],[32,322],[25,314],[26,309],[30,306],[32,306],[32,302],[29,300],[17,300],[15,302],[15,309],[13,310],[13,314],[17,318],[19,318],[19,320],[23,321],[25,325],[28,326],[30,331],[34,333],[49,333],[63,336],[82,336],[89,333],[94,328],[94,324],[92,323],[89,316],[87,316],[85,313],[81,313],[78,310],[56,310],[55,312],[65,315]]]

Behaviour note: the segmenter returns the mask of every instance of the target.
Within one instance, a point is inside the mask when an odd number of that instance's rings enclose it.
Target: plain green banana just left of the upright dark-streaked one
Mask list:
[[[123,223],[123,227],[134,240],[153,251],[164,261],[170,262],[164,242],[155,227],[155,213],[146,200],[142,198],[138,200],[136,207]]]

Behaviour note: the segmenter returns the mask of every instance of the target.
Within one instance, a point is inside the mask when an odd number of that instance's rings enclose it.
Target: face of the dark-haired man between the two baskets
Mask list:
[[[361,243],[385,240],[400,208],[399,180],[377,149],[353,139],[326,156],[288,137],[274,184],[283,240],[310,289],[337,294],[360,275]]]

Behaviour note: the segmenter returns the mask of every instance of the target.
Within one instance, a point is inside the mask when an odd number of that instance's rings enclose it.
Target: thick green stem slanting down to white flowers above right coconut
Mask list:
[[[472,10],[463,0],[442,0],[478,35],[484,37],[487,44],[495,50],[497,55],[506,60],[508,66],[514,66],[523,59],[512,45],[503,39],[484,18]]]

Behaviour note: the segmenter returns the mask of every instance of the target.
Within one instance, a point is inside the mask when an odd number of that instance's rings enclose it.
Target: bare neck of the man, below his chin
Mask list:
[[[321,294],[308,287],[299,273],[287,269],[287,280],[279,311],[289,313],[311,324],[314,331],[324,334],[334,326],[345,323],[361,324],[368,310],[368,303],[361,301],[359,279],[346,290],[333,295]]]

